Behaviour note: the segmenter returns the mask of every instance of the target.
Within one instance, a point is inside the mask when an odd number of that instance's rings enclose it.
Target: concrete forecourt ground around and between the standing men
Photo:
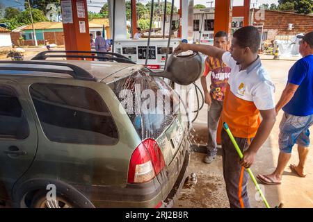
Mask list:
[[[287,82],[288,71],[294,65],[294,61],[262,60],[262,63],[275,84],[275,99],[277,102]],[[200,86],[200,82],[198,82],[198,85]],[[275,169],[279,154],[278,126],[281,118],[282,112],[278,115],[270,137],[268,137],[264,146],[257,153],[255,164],[252,166],[252,172],[255,176],[258,173],[271,173]],[[205,144],[207,141],[207,105],[204,105],[193,126],[195,128],[193,135],[196,137],[194,144]],[[193,187],[182,189],[175,207],[229,207],[225,192],[225,183],[223,181],[222,157],[218,155],[212,164],[204,164],[202,162],[203,157],[203,153],[193,153],[191,155],[189,172],[197,174],[198,182]],[[290,163],[298,163],[296,146],[294,147]],[[313,207],[312,152],[309,153],[307,159],[306,171],[306,178],[299,178],[294,173],[291,173],[287,166],[282,178],[282,185],[260,185],[269,205],[275,207],[275,205],[282,202],[284,203],[284,207]],[[248,193],[251,207],[264,207],[264,203],[259,198],[251,180],[249,180],[248,184]]]

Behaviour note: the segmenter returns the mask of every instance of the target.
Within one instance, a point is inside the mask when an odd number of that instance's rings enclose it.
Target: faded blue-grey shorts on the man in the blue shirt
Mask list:
[[[313,125],[313,114],[298,117],[284,112],[280,122],[279,146],[280,151],[291,153],[294,144],[310,146],[310,126]]]

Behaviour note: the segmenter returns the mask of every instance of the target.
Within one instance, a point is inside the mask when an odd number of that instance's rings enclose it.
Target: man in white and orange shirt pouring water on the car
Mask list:
[[[275,87],[257,54],[261,38],[257,28],[246,26],[232,37],[230,51],[201,44],[180,44],[175,53],[200,51],[223,60],[232,69],[225,93],[221,120],[226,122],[243,152],[239,156],[222,130],[223,175],[230,207],[248,208],[248,172],[255,155],[275,123]],[[260,119],[262,117],[262,120]]]

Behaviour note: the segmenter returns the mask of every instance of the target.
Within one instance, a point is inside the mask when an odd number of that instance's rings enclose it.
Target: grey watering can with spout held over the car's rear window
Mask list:
[[[170,55],[164,71],[152,72],[150,76],[168,78],[179,85],[190,85],[203,74],[204,60],[198,52],[184,56]]]

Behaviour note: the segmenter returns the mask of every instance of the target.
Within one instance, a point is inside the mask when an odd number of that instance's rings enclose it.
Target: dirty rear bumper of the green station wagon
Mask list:
[[[184,139],[177,163],[170,164],[157,177],[143,184],[127,184],[122,187],[111,186],[76,186],[91,200],[95,207],[131,207],[154,208],[162,202],[161,207],[172,207],[177,200],[186,177],[190,162],[191,146]],[[176,158],[175,157],[175,158]]]

